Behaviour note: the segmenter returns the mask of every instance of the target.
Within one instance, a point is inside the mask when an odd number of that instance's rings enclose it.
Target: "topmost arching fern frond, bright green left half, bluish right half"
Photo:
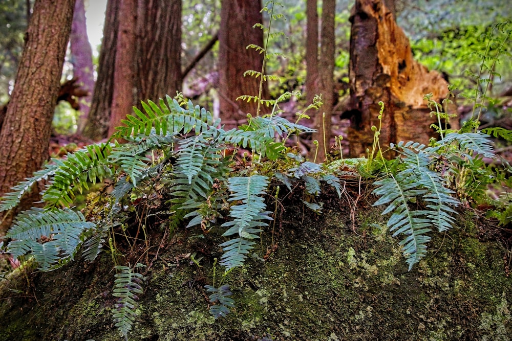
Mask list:
[[[165,98],[167,104],[163,99],[160,99],[159,105],[152,101],[147,101],[147,104],[141,102],[145,113],[134,107],[135,116],[127,115],[126,120],[121,121],[125,126],[116,127],[116,135],[149,135],[153,128],[157,135],[165,135],[167,131],[187,134],[193,129],[200,133],[209,126],[217,125],[213,115],[199,105],[194,107],[189,101],[188,108],[184,109],[177,100],[168,95]]]

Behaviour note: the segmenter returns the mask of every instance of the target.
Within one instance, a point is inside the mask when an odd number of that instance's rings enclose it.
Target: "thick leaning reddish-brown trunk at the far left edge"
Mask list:
[[[75,0],[36,0],[16,83],[0,132],[0,196],[48,160],[53,111],[66,54]],[[20,209],[32,206],[34,189]],[[10,224],[4,217],[3,235]],[[2,217],[0,217],[0,220]]]

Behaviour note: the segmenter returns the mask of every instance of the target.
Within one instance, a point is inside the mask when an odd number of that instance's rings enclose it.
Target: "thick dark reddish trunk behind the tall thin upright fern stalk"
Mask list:
[[[257,115],[258,103],[236,101],[241,95],[258,96],[260,78],[244,77],[245,71],[261,71],[262,55],[249,44],[263,47],[263,31],[252,28],[263,21],[260,0],[222,0],[219,30],[219,105],[226,127],[243,123],[247,113]],[[264,82],[263,96],[267,94]]]

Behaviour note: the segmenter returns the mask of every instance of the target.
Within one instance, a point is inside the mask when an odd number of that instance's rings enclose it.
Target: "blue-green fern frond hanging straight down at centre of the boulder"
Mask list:
[[[265,189],[268,186],[268,178],[263,175],[249,177],[229,178],[229,190],[232,192],[229,201],[241,200],[242,204],[231,207],[229,216],[234,218],[221,226],[228,228],[223,236],[237,235],[237,238],[228,240],[220,246],[223,247],[221,265],[226,271],[234,267],[242,266],[252,245],[253,239],[260,238],[257,234],[262,230],[261,226],[268,224],[262,220],[271,220],[268,216],[271,212],[265,212]]]

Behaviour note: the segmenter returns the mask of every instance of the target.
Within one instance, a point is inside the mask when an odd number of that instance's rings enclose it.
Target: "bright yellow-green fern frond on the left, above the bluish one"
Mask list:
[[[47,207],[68,206],[73,202],[74,190],[82,193],[83,189],[89,189],[88,183],[95,184],[112,176],[108,160],[112,147],[112,144],[105,143],[89,145],[68,154],[66,160],[53,158],[58,168],[51,185],[42,193]]]

